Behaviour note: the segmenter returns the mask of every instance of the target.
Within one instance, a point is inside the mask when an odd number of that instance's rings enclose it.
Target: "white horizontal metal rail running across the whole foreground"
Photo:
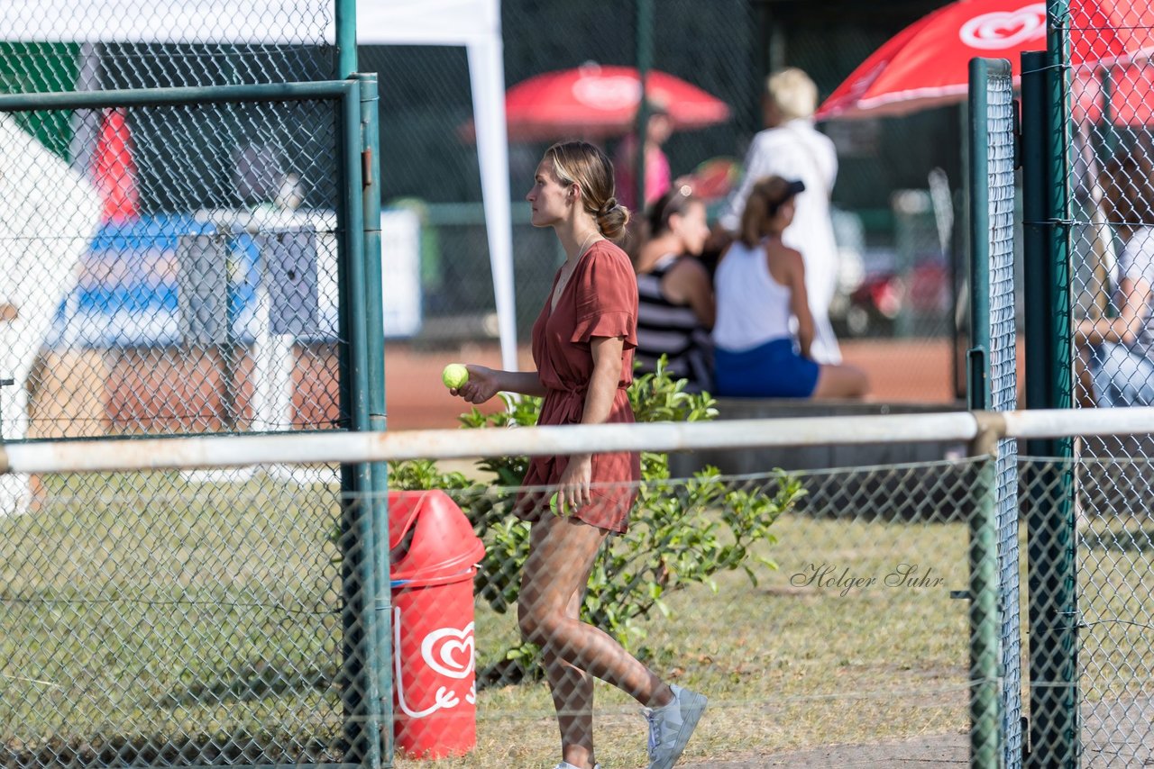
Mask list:
[[[1003,435],[1016,438],[1154,433],[1154,408],[1022,410],[1002,416],[1006,428]],[[103,438],[17,443],[3,448],[12,473],[99,473],[604,451],[966,443],[977,433],[979,421],[973,413],[946,412],[467,431]]]

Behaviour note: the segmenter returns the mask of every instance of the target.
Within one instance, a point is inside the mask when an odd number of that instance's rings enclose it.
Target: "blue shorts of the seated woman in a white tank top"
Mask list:
[[[810,398],[820,367],[794,352],[793,339],[773,339],[740,353],[713,352],[714,387],[729,398]]]

